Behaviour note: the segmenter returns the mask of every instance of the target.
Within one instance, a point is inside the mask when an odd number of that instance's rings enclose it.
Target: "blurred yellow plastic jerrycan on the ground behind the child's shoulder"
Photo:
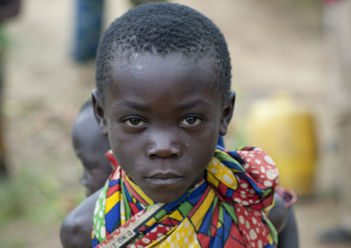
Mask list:
[[[298,195],[310,195],[316,162],[312,114],[289,93],[277,93],[252,105],[247,138],[272,157],[279,186]]]

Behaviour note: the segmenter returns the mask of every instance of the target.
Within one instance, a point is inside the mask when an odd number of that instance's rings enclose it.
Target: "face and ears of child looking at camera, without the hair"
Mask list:
[[[135,55],[113,64],[104,108],[93,93],[118,164],[155,202],[173,202],[199,182],[225,134],[232,106],[222,106],[210,63]]]

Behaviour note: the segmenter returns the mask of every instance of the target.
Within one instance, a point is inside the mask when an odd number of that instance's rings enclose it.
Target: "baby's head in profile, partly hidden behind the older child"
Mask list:
[[[108,139],[99,132],[93,110],[83,111],[79,115],[73,126],[72,140],[75,154],[84,166],[81,182],[86,196],[89,196],[104,186],[112,172],[105,155],[110,149]]]

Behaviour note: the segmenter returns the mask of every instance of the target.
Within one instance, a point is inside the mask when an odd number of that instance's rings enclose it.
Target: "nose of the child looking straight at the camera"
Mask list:
[[[158,132],[151,134],[151,144],[147,148],[148,158],[180,158],[182,151],[177,140],[176,132]]]

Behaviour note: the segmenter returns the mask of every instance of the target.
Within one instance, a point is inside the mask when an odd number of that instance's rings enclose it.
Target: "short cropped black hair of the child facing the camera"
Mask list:
[[[191,58],[211,56],[216,86],[224,102],[230,91],[231,64],[227,42],[218,27],[200,12],[176,3],[148,3],[115,19],[97,48],[96,86],[104,102],[111,85],[111,62],[135,53],[183,53]]]

